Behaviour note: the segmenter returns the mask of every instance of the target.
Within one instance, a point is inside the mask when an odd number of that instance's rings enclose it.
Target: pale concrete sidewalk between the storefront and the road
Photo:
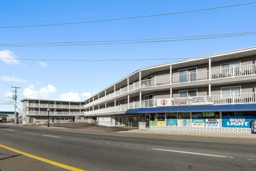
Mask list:
[[[197,133],[197,132],[174,132],[174,131],[152,131],[152,130],[130,130],[121,131],[119,133],[126,134],[157,134],[157,135],[180,135],[190,137],[216,137],[216,138],[242,138],[256,140],[256,134],[237,134],[237,133]]]

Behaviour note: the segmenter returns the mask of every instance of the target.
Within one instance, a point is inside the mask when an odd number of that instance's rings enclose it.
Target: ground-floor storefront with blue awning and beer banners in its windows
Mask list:
[[[142,129],[249,133],[255,104],[172,106],[127,110],[140,116]],[[188,130],[189,129],[189,130]]]

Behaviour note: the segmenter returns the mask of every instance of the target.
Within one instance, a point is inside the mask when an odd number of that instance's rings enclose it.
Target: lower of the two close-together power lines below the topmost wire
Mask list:
[[[238,34],[223,34],[220,36],[206,36],[206,37],[197,37],[197,38],[186,38],[186,39],[171,39],[171,40],[163,40],[167,38],[161,38],[161,39],[155,39],[152,41],[133,41],[133,42],[103,42],[103,43],[88,43],[88,44],[77,44],[74,42],[66,43],[65,42],[60,42],[60,44],[45,44],[45,45],[26,45],[26,44],[0,44],[0,46],[3,47],[33,47],[33,46],[88,46],[88,45],[118,45],[118,44],[145,44],[145,43],[152,43],[152,42],[170,42],[170,41],[187,41],[187,40],[202,40],[202,39],[215,39],[215,38],[227,38],[227,37],[240,37],[240,36],[252,36],[256,35],[256,31],[253,31],[251,33],[238,33]],[[143,40],[143,39],[142,39]],[[123,40],[124,41],[124,40]],[[131,41],[131,40],[129,40]],[[37,43],[38,44],[38,43]],[[44,44],[44,43],[41,43]],[[0,59],[5,59],[5,58],[0,58]]]

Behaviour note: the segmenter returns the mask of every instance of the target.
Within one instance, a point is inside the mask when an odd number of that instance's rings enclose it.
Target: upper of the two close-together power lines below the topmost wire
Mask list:
[[[231,35],[247,35],[247,34],[256,34],[256,31],[247,31],[247,32],[240,32],[240,33],[229,33],[229,34],[187,36],[187,37],[151,38],[151,39],[98,40],[98,41],[72,41],[72,42],[0,43],[0,45],[80,44],[80,43],[91,43],[91,42],[119,42],[119,41],[144,41],[144,40],[184,39],[184,38],[200,38],[200,37],[229,36],[229,35],[230,35],[230,36],[231,36]]]

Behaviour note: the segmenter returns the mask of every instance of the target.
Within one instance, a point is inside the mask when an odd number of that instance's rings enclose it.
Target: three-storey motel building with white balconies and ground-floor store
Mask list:
[[[23,99],[23,123],[251,133],[256,47],[139,69],[82,102]],[[255,126],[256,127],[256,126]]]

